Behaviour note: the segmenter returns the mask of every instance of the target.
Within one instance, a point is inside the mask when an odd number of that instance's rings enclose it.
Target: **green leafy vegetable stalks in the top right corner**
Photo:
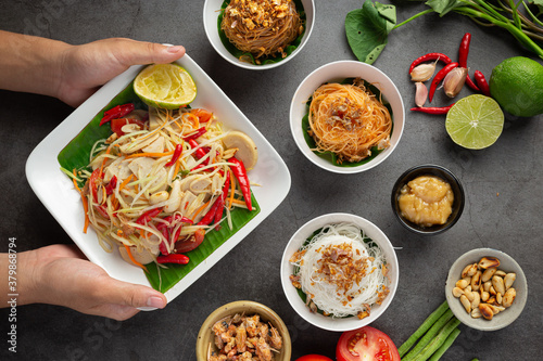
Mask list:
[[[517,41],[543,59],[543,22],[538,16],[543,13],[543,1],[534,0],[539,13],[534,14],[525,0],[428,0],[427,9],[406,21],[396,24],[394,5],[384,5],[365,0],[362,9],[348,13],[345,33],[349,44],[361,62],[372,64],[388,42],[390,31],[428,13],[444,16],[449,12],[469,16],[483,26],[498,26],[509,31]],[[520,8],[525,9],[525,15]]]

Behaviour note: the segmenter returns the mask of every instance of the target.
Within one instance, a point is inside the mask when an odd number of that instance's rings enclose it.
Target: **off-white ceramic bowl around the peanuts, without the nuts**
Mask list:
[[[490,321],[483,318],[473,319],[466,312],[464,306],[460,304],[460,300],[453,296],[453,288],[456,285],[456,281],[460,279],[464,268],[470,263],[479,262],[482,257],[496,257],[500,259],[500,266],[497,267],[498,270],[503,270],[507,273],[517,273],[517,278],[512,286],[517,292],[517,296],[513,301],[513,305],[503,312],[495,314]],[[526,281],[525,272],[515,259],[513,259],[513,257],[493,248],[477,248],[458,257],[458,259],[451,267],[445,284],[445,297],[451,311],[453,311],[454,315],[466,326],[480,331],[496,331],[508,326],[520,315],[520,313],[522,313],[526,300],[528,299],[528,283]]]

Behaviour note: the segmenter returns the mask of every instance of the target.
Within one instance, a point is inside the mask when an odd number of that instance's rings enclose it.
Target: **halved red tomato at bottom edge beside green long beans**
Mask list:
[[[336,358],[338,361],[400,361],[400,353],[386,333],[364,326],[341,335]]]

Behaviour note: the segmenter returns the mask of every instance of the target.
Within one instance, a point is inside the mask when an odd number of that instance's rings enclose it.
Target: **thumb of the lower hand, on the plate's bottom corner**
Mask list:
[[[167,305],[166,296],[151,287],[110,280],[110,284],[104,287],[110,289],[109,304],[144,309],[162,309]]]

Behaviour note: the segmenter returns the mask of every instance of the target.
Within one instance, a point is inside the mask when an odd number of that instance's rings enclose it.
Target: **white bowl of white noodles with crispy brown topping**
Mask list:
[[[358,216],[330,214],[294,233],[280,275],[287,299],[305,321],[344,332],[384,312],[394,298],[399,266],[377,225]]]

